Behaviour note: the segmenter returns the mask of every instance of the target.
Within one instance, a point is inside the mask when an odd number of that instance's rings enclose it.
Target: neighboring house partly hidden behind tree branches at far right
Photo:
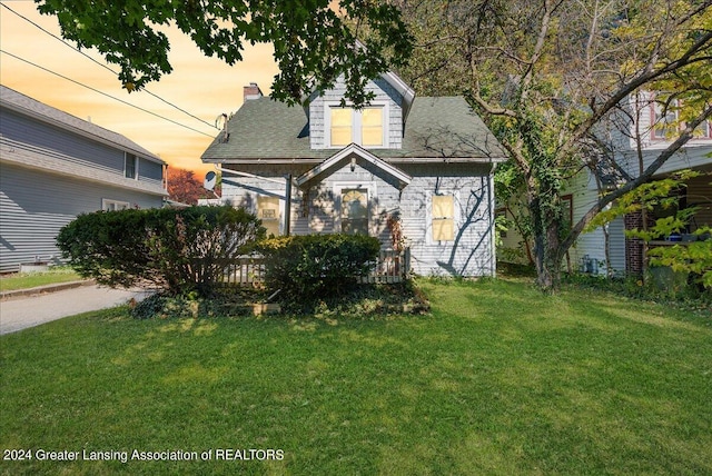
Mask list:
[[[599,169],[599,173],[594,175],[591,168],[583,168],[570,180],[562,198],[572,224],[577,222],[591,209],[600,194],[637,177],[641,173],[641,167],[642,170],[647,168],[679,137],[684,125],[679,121],[675,105],[671,106],[664,113],[665,108],[661,101],[656,100],[655,95],[642,91],[626,98],[621,107],[623,112],[616,113],[609,122],[602,125],[597,130],[599,139],[606,145],[609,157],[604,158],[599,167],[607,168],[609,173],[602,175]],[[612,166],[614,162],[617,166]],[[712,173],[712,121],[703,122],[698,127],[694,137],[668,159],[653,175],[652,180],[663,179],[685,169]],[[712,226],[711,182],[712,177],[709,175],[692,178],[678,191],[680,208],[698,208],[684,239],[696,239],[692,235],[695,229]],[[656,218],[672,212],[674,210],[655,209],[647,214],[647,222],[652,225]],[[615,275],[642,272],[645,266],[643,242],[625,237],[626,229],[641,227],[642,214],[636,212],[613,220],[606,229],[597,228],[582,234],[568,251],[567,262],[571,269]],[[520,262],[527,261],[526,244],[522,241],[521,236],[508,230],[504,241],[505,247],[520,250]],[[652,245],[673,244],[675,242],[661,239]],[[606,251],[609,259],[606,259]]]

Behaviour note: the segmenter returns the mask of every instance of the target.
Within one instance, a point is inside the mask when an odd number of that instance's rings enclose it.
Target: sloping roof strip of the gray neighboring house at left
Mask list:
[[[51,106],[47,106],[46,103],[37,101],[28,96],[22,95],[21,92],[16,91],[14,89],[10,89],[2,85],[0,85],[0,105],[3,108],[8,108],[22,115],[33,117],[43,122],[48,122],[68,131],[79,133],[80,136],[85,136],[90,139],[108,143],[118,149],[136,153],[146,159],[164,163],[160,157],[149,152],[138,143],[134,142],[130,139],[127,139],[120,133],[79,119],[76,116],[52,108]]]

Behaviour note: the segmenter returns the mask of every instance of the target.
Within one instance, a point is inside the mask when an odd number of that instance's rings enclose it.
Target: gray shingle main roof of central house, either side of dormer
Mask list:
[[[334,149],[310,149],[304,109],[269,98],[246,101],[228,121],[229,140],[218,136],[206,162],[324,160]],[[390,161],[502,161],[504,149],[463,97],[416,98],[400,149],[369,149]]]

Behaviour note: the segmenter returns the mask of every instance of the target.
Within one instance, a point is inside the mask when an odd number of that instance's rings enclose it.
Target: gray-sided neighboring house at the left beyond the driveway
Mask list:
[[[56,262],[77,215],[161,207],[166,163],[110,130],[0,86],[0,271]]]

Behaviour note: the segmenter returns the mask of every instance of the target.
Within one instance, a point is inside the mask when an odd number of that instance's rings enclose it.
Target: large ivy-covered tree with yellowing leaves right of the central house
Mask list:
[[[712,116],[711,0],[395,3],[418,46],[406,79],[421,92],[464,92],[510,152],[518,181],[508,182],[522,186],[544,289],[557,287],[566,250],[593,217],[646,182]],[[568,230],[562,188],[586,167],[595,172],[602,156],[616,166],[597,138],[643,89],[664,91],[664,107],[684,105],[684,127]]]

